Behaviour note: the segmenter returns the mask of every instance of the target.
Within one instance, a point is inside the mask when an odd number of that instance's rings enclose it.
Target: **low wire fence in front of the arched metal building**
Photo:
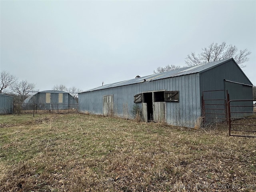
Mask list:
[[[78,104],[14,103],[14,114],[78,113]]]

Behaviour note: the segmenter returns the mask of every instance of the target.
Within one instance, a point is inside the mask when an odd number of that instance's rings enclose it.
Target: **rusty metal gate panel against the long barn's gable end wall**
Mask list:
[[[228,90],[203,91],[202,116],[204,125],[227,123]]]

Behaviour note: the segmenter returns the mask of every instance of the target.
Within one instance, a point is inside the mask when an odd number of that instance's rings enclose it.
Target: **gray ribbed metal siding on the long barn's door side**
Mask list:
[[[201,114],[198,74],[79,93],[79,110],[103,114],[102,98],[104,95],[113,94],[114,115],[126,117],[128,112],[128,117],[133,118],[131,110],[134,106],[134,95],[156,90],[179,91],[179,102],[166,102],[167,123],[194,126],[195,120]],[[136,105],[142,108],[142,103]]]

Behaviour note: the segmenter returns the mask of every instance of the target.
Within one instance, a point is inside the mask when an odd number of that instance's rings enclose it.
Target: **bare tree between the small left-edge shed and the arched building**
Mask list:
[[[30,92],[33,92],[35,87],[36,85],[34,83],[28,83],[27,80],[22,80],[20,82],[16,82],[12,86],[12,90],[15,93],[18,93],[22,97],[23,101]]]

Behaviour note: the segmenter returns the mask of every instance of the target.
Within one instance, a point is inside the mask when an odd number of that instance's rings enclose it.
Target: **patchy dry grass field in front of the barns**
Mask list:
[[[256,139],[86,114],[0,116],[0,191],[256,191]]]

